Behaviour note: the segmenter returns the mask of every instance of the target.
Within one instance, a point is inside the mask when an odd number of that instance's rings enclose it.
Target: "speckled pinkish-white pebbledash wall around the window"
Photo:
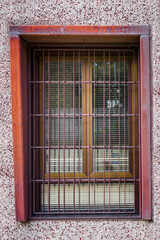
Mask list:
[[[10,25],[151,28],[152,221],[16,221]],[[0,239],[160,239],[160,3],[158,0],[2,0],[0,5]]]

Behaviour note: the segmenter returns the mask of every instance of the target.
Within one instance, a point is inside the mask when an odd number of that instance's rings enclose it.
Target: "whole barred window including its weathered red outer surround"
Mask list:
[[[11,27],[17,220],[151,219],[149,80],[148,27]]]

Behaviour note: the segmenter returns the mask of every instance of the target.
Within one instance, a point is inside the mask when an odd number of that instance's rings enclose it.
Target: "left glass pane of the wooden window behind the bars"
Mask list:
[[[59,73],[58,65],[60,69]],[[82,112],[82,87],[81,84],[76,83],[76,81],[81,81],[82,74],[81,72],[79,73],[79,70],[81,71],[81,64],[75,63],[75,75],[73,76],[72,62],[66,62],[65,64],[62,62],[59,62],[59,64],[56,62],[50,63],[51,82],[45,84],[45,112],[51,116],[45,118],[45,137],[46,145],[49,145],[51,148],[54,147],[54,149],[46,150],[46,173],[48,173],[49,170],[50,173],[58,173],[58,164],[60,173],[73,173],[73,171],[82,172],[82,117],[80,115],[73,115]],[[48,71],[48,68],[46,68],[45,71]],[[66,83],[58,83],[58,79],[60,82],[65,80]],[[56,83],[53,83],[53,81]],[[72,81],[72,83],[70,83],[70,81]],[[74,92],[75,94],[73,94]],[[52,114],[55,116],[52,116]],[[65,147],[69,147],[69,149],[64,150],[61,148],[64,147],[64,145]],[[73,150],[73,146],[77,146],[79,149]]]

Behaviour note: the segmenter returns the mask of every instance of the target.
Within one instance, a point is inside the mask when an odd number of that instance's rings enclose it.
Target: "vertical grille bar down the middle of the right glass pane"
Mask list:
[[[111,202],[111,53],[109,51],[109,212],[111,211],[110,202]]]

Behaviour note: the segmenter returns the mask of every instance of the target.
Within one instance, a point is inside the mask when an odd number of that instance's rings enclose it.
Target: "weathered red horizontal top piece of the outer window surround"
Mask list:
[[[140,35],[149,34],[149,26],[10,26],[12,34],[60,35]]]

